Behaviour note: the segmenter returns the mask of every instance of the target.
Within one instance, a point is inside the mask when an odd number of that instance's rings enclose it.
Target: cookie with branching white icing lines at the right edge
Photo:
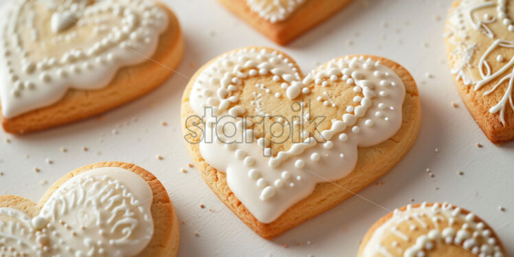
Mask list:
[[[514,139],[514,5],[457,0],[447,18],[445,42],[457,89],[493,143]]]

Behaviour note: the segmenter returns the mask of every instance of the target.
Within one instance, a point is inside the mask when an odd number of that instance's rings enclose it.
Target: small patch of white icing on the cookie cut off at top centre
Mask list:
[[[271,23],[287,19],[306,0],[245,0],[249,8]]]

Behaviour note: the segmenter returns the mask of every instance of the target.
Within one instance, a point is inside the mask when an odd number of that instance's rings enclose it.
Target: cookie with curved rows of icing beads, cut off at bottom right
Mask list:
[[[493,229],[449,203],[407,205],[372,225],[357,257],[507,256]]]

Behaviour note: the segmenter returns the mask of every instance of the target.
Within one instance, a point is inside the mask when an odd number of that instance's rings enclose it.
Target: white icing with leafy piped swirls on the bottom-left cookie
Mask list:
[[[67,180],[33,219],[0,208],[0,256],[135,256],[153,236],[148,183],[123,168]]]

